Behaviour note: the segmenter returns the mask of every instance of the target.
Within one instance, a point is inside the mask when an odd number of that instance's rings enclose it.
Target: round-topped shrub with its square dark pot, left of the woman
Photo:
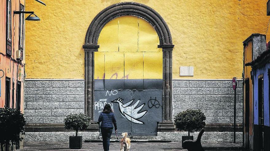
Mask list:
[[[65,128],[76,131],[76,136],[69,136],[69,148],[81,149],[83,146],[83,137],[78,136],[79,130],[85,130],[90,125],[90,117],[82,113],[70,114],[65,119]]]

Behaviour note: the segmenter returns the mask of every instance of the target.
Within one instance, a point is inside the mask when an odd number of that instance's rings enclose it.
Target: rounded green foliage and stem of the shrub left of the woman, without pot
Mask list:
[[[65,128],[73,129],[76,131],[76,136],[78,136],[79,130],[85,130],[90,125],[90,117],[82,113],[70,114],[65,119]]]

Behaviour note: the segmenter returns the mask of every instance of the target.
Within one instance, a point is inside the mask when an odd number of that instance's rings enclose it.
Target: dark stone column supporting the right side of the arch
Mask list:
[[[172,49],[174,45],[158,45],[163,51],[163,92],[162,122],[158,124],[158,131],[174,131],[172,122]]]

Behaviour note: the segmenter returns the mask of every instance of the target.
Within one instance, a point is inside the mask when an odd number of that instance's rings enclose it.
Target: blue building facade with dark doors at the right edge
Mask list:
[[[267,44],[269,46],[269,43]],[[270,47],[257,52],[257,57],[245,66],[251,66],[253,83],[253,146],[254,150],[270,151],[269,77]],[[253,52],[254,54],[254,52]]]

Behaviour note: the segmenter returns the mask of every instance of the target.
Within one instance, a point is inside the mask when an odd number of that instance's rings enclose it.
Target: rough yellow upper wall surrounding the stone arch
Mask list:
[[[44,7],[26,0],[26,10],[41,18],[26,21],[26,78],[84,78],[82,45],[89,24],[102,9],[124,1],[44,0]],[[265,34],[269,19],[267,0],[134,1],[155,9],[168,24],[175,45],[173,79],[240,78],[242,41]],[[127,45],[125,40],[119,37],[121,43],[111,47]],[[194,66],[194,76],[179,77],[179,66]]]

